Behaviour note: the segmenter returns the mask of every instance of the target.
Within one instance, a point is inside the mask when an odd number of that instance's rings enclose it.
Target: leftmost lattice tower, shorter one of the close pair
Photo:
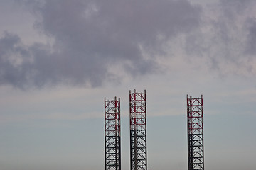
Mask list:
[[[120,98],[105,98],[105,170],[121,169]]]

